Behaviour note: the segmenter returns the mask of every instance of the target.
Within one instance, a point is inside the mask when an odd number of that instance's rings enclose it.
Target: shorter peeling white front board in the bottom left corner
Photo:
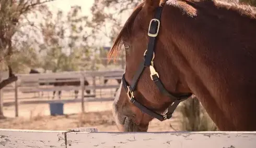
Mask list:
[[[65,148],[65,132],[0,129],[0,148]]]

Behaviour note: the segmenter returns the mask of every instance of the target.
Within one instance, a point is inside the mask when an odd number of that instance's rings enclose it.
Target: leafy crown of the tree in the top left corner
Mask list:
[[[15,42],[14,35],[17,32],[23,33],[23,35],[26,33],[26,31],[20,30],[21,26],[24,25],[22,20],[27,19],[27,15],[38,8],[37,6],[42,6],[43,3],[50,1],[54,0],[0,1],[0,61],[5,60],[8,63],[11,55],[16,52],[13,43]]]

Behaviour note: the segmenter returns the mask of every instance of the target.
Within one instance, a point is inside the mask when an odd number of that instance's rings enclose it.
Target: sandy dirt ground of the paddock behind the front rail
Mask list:
[[[112,101],[85,103],[85,114],[81,114],[80,103],[66,103],[63,116],[50,116],[49,104],[19,105],[19,117],[15,118],[14,106],[4,107],[6,119],[0,119],[0,128],[66,130],[76,127],[94,127],[99,131],[118,131],[111,107]],[[159,122],[154,119],[148,131],[173,131],[177,127],[174,118]]]

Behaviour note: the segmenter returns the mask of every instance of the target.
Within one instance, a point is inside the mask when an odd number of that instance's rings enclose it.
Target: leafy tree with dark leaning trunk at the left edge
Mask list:
[[[37,8],[41,6],[40,9],[43,9],[43,5],[46,2],[54,0],[1,0],[0,1],[0,62],[1,62],[1,71],[5,68],[8,68],[9,77],[0,82],[0,89],[6,85],[15,82],[17,77],[13,74],[11,69],[11,60],[12,56],[20,53],[17,51],[15,44],[21,38],[14,37],[16,34],[22,34],[25,32],[21,30],[21,26],[24,25],[24,20],[28,20],[28,15],[32,14]],[[38,10],[40,10],[38,9]],[[29,21],[27,21],[29,22]],[[33,25],[28,23],[29,25]],[[24,37],[24,36],[23,36]],[[4,66],[6,65],[6,66]],[[0,98],[0,117],[3,115],[3,100]]]

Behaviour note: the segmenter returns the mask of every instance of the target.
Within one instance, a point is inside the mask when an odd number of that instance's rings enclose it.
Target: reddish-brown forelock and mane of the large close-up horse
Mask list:
[[[237,2],[225,2],[225,1],[219,1],[219,0],[168,0],[168,1],[161,1],[160,3],[165,4],[168,2],[170,5],[174,4],[172,6],[178,7],[180,9],[182,9],[185,6],[184,5],[182,6],[181,3],[176,3],[176,2],[185,2],[188,5],[191,5],[192,7],[194,7],[195,9],[200,7],[206,8],[205,10],[208,10],[208,7],[215,7],[218,9],[222,8],[222,9],[226,9],[226,10],[230,10],[235,13],[238,13],[243,17],[256,19],[256,8],[253,6],[250,6],[249,4],[243,4],[243,3],[237,3]],[[109,51],[109,54],[108,54],[109,61],[111,57],[115,58],[118,55],[123,45],[123,38],[125,36],[130,35],[134,20],[138,15],[139,11],[142,10],[144,3],[145,2],[142,2],[133,10],[132,15],[127,19],[127,21],[123,25],[123,28],[121,29],[120,33],[118,34],[117,38],[114,41],[112,48]],[[193,14],[193,12],[188,12],[188,11],[191,11],[192,9],[183,9],[183,11],[184,10],[187,11],[187,14]]]

